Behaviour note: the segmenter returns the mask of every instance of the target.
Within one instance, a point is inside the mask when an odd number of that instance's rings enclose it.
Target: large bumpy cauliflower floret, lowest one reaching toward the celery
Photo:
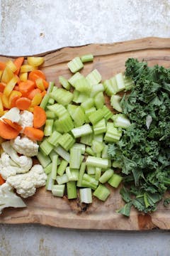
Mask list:
[[[13,188],[16,188],[16,192],[23,198],[28,198],[29,196],[33,196],[36,188],[45,186],[46,179],[47,175],[42,166],[35,164],[27,174],[18,174],[8,177],[6,182]]]

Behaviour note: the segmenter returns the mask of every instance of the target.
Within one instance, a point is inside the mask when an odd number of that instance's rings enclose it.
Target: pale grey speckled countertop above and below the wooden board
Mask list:
[[[169,0],[0,0],[0,54],[170,36]],[[0,225],[0,256],[169,256],[169,232]]]

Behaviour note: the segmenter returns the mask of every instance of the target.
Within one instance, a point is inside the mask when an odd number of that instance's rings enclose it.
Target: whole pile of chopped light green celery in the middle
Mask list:
[[[121,112],[121,90],[130,90],[132,81],[122,73],[101,82],[101,74],[93,70],[84,77],[79,70],[94,56],[76,57],[68,63],[74,75],[69,80],[59,77],[62,87],[50,82],[41,102],[47,114],[45,137],[40,143],[38,159],[47,174],[47,191],[53,196],[77,198],[92,203],[92,194],[106,201],[122,177],[115,173],[118,163],[108,159],[108,143],[116,143],[130,122],[123,114],[113,114],[105,105],[106,95],[111,105]],[[72,92],[70,89],[72,88]],[[106,186],[108,183],[108,186]],[[79,189],[77,189],[79,188]]]

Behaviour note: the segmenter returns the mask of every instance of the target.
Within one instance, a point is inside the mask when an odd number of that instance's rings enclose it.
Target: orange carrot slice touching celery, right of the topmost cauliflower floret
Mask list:
[[[35,106],[33,111],[33,126],[35,128],[42,127],[42,125],[45,124],[46,119],[45,110],[43,110],[42,107]]]

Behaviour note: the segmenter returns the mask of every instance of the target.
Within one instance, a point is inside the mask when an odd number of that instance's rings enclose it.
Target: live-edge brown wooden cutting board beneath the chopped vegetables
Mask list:
[[[90,44],[79,47],[66,47],[48,53],[42,53],[45,63],[42,70],[48,81],[58,85],[58,76],[71,76],[67,62],[86,53],[94,55],[94,62],[85,64],[82,73],[86,75],[96,68],[103,80],[125,70],[125,60],[139,58],[147,60],[149,65],[159,64],[170,67],[170,38],[144,38],[111,44]],[[6,61],[8,56],[0,56]],[[109,104],[109,102],[108,102]],[[159,203],[152,214],[138,213],[132,209],[130,218],[115,213],[123,206],[119,191],[111,188],[111,196],[103,203],[94,198],[90,206],[82,206],[77,200],[54,198],[45,188],[38,189],[35,196],[24,200],[27,208],[8,208],[0,216],[0,223],[40,223],[60,228],[81,228],[94,230],[150,230],[170,229],[170,208]]]

